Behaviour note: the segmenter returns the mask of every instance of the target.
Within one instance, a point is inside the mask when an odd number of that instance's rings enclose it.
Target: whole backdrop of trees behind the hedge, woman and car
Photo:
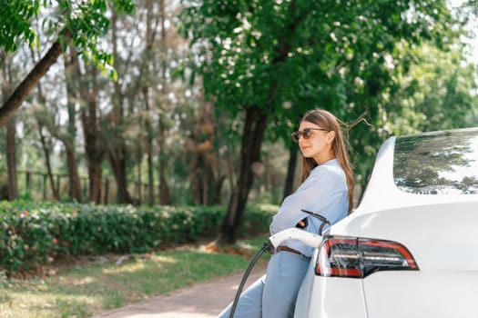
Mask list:
[[[473,0],[2,7],[0,199],[227,204],[234,242],[297,185],[310,109],[347,124],[358,197],[387,137],[478,125]]]

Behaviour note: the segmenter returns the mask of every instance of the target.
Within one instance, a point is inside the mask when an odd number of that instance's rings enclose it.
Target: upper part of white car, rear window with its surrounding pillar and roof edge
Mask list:
[[[478,127],[392,136],[356,212],[477,201],[477,174]]]

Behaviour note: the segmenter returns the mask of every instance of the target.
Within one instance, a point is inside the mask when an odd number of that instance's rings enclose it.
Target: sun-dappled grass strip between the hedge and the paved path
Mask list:
[[[0,277],[0,317],[91,317],[191,283],[244,271],[265,239],[239,243],[242,256],[184,247],[128,255],[120,265],[116,264],[119,256],[106,263],[76,265],[42,279]]]

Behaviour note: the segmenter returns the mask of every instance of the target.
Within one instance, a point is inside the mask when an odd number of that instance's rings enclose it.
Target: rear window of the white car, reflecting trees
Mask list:
[[[478,194],[478,128],[397,137],[393,179],[412,194]]]

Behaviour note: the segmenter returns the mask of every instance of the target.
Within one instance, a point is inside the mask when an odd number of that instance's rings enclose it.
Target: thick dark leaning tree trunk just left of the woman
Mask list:
[[[250,188],[254,182],[253,164],[259,163],[267,117],[266,111],[259,107],[246,109],[240,148],[239,180],[232,192],[228,212],[221,225],[219,243],[235,243],[238,239]]]

